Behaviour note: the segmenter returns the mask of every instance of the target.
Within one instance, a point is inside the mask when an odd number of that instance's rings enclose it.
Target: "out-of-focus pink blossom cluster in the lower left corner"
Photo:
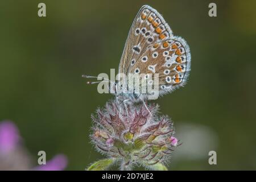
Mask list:
[[[60,171],[67,167],[67,157],[59,154],[47,161],[46,165],[33,168],[31,156],[21,140],[19,130],[13,122],[0,122],[0,170]]]

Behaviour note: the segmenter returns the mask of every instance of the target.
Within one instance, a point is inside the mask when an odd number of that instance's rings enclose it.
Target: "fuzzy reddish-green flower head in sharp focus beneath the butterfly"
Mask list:
[[[88,170],[102,170],[117,163],[122,170],[134,166],[167,170],[178,140],[170,118],[158,115],[158,105],[119,104],[112,100],[92,115],[91,139],[97,151],[108,158],[93,163]]]

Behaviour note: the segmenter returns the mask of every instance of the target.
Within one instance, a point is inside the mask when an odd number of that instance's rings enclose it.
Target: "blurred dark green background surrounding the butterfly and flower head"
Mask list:
[[[210,2],[217,17],[208,16]],[[256,169],[255,1],[1,1],[0,121],[18,126],[32,158],[62,153],[69,170],[103,158],[90,144],[90,114],[113,96],[81,75],[118,68],[144,4],[191,48],[188,84],[154,101],[183,141],[168,168]],[[208,164],[210,150],[217,165]]]

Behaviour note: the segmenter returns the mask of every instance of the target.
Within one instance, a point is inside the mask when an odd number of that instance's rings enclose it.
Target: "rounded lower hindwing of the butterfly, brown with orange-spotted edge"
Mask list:
[[[147,57],[145,63],[143,57]],[[191,55],[187,43],[179,36],[151,45],[138,60],[129,73],[136,73],[136,70],[146,75],[158,73],[160,95],[172,92],[187,82]]]

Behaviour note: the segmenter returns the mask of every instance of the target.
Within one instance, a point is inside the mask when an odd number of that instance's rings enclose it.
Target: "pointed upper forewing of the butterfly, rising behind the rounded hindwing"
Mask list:
[[[142,6],[130,28],[118,72],[127,75],[150,45],[171,36],[171,28],[162,16],[152,7]]]

